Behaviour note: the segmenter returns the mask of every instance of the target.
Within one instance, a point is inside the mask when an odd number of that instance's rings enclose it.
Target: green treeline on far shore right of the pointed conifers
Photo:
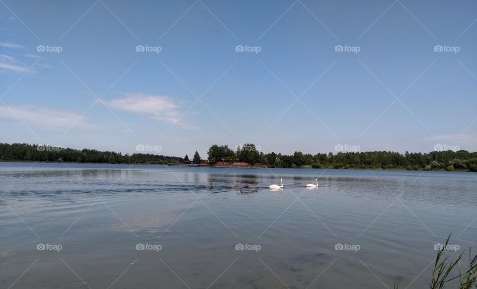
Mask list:
[[[313,167],[323,169],[384,169],[384,170],[447,170],[477,172],[477,152],[460,150],[430,153],[397,152],[338,152],[337,154],[282,155],[264,154],[254,144],[244,144],[237,151],[227,145],[212,145],[208,151],[210,162],[246,162],[276,165],[278,168]]]

